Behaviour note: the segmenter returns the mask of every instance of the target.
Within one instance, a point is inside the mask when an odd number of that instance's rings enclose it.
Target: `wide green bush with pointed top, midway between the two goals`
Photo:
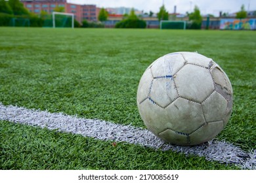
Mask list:
[[[116,28],[146,28],[146,22],[144,20],[140,20],[138,16],[135,14],[135,10],[132,9],[129,16],[120,22],[117,22],[115,25]]]

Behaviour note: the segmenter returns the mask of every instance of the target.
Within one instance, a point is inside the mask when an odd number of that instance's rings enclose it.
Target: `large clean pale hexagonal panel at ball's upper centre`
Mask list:
[[[185,65],[174,78],[181,97],[202,103],[214,90],[213,79],[208,69]]]

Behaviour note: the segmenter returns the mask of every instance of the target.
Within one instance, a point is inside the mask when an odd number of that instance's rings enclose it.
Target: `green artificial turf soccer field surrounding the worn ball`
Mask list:
[[[255,169],[255,48],[255,31],[1,27],[0,169]],[[136,103],[140,77],[155,59],[180,51],[212,58],[228,75],[234,91],[232,116],[210,144],[225,142],[245,152],[237,158],[251,162],[249,167],[207,154],[184,154],[175,146],[163,150],[33,124],[56,116],[43,119],[29,109],[142,131],[146,127]],[[14,109],[18,112],[12,117],[3,112]],[[20,111],[28,112],[30,125],[20,123],[25,118]],[[223,152],[232,156],[233,150]]]

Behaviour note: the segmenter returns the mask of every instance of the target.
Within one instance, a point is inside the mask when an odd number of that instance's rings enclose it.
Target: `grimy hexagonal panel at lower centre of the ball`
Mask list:
[[[201,105],[186,99],[178,98],[165,110],[169,116],[165,126],[173,131],[188,134],[205,123]]]

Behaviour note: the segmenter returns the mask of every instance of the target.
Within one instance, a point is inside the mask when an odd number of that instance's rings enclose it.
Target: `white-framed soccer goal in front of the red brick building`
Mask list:
[[[55,27],[74,28],[74,14],[66,12],[53,12],[53,28]]]

